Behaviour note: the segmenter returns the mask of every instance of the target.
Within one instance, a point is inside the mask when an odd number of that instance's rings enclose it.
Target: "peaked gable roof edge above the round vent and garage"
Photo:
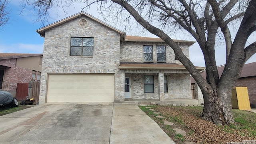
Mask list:
[[[91,16],[90,14],[87,14],[85,12],[79,12],[77,14],[74,14],[74,15],[69,16],[67,18],[64,18],[62,20],[59,20],[57,22],[54,22],[52,24],[49,24],[49,25],[44,26],[42,28],[39,28],[38,30],[36,30],[36,32],[38,32],[38,34],[40,34],[40,36],[44,36],[46,30],[49,30],[49,29],[51,29],[51,28],[53,28],[55,26],[59,26],[59,25],[64,24],[66,22],[69,22],[69,21],[74,20],[76,18],[79,18],[81,16],[86,16],[86,17],[88,17],[88,18],[90,18],[90,19],[92,19],[92,20],[94,20],[94,21],[96,21],[96,22],[98,22],[98,23],[100,23],[100,24],[110,28],[111,30],[114,30],[114,31],[118,32],[122,37],[125,36],[125,32],[122,32],[121,30],[118,30],[117,28],[114,28],[113,26],[110,26],[109,24],[106,24],[105,22],[102,22],[101,20],[99,20],[97,18],[94,18],[93,16]]]

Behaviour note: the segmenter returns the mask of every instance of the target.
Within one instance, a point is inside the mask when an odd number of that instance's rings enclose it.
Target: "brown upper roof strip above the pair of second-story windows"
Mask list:
[[[141,36],[126,36],[124,39],[126,42],[164,42],[161,38],[148,38],[148,37],[141,37]],[[177,43],[187,43],[188,45],[192,45],[194,41],[188,40],[173,40]]]

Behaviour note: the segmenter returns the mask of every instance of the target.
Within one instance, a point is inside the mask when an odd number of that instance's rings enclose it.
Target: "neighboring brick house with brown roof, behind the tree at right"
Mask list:
[[[225,65],[219,66],[218,73],[221,76]],[[202,72],[202,76],[206,78],[206,71]],[[191,84],[195,84],[194,78],[191,77]],[[236,81],[236,87],[247,87],[250,105],[256,108],[256,62],[244,64],[242,72]]]

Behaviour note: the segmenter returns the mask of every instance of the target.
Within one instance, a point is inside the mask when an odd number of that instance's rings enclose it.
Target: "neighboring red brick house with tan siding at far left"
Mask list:
[[[0,53],[0,89],[16,96],[17,83],[40,80],[43,54]]]

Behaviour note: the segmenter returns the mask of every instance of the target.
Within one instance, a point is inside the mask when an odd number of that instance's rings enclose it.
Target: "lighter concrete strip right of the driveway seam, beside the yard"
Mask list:
[[[175,144],[136,104],[114,103],[110,144]]]

